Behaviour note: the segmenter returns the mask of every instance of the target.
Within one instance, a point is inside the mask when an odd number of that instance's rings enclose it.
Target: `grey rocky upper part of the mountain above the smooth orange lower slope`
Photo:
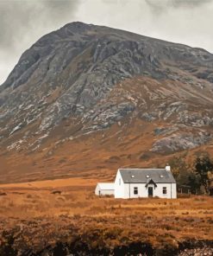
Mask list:
[[[163,125],[155,153],[207,144],[212,78],[204,49],[72,22],[35,42],[0,86],[0,146],[34,152],[116,124],[122,133],[127,119]]]

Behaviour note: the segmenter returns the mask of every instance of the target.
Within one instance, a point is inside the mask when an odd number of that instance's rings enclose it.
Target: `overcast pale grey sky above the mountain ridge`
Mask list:
[[[0,84],[24,50],[42,35],[74,21],[213,53],[213,0],[0,0]]]

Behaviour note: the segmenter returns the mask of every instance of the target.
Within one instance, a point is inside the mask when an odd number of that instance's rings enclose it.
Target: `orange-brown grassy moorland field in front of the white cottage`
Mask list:
[[[61,252],[69,246],[110,252],[133,243],[162,253],[213,240],[210,196],[115,200],[94,195],[96,183],[70,178],[0,185],[0,255],[66,255]]]

